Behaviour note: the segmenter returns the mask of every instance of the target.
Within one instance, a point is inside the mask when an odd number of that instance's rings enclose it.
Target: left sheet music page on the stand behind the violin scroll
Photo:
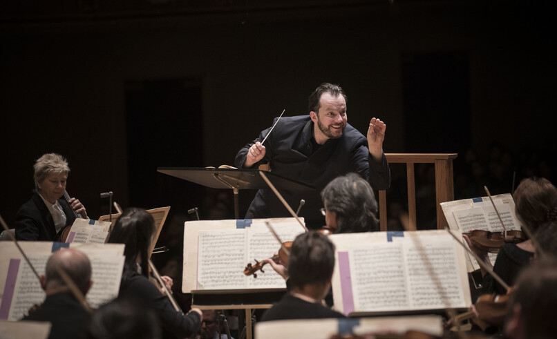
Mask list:
[[[246,233],[243,229],[200,231],[198,289],[245,287]]]

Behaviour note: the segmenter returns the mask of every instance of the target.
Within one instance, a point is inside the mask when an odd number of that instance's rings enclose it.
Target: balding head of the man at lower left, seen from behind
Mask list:
[[[48,258],[45,275],[41,275],[41,285],[49,294],[68,291],[68,284],[59,274],[63,269],[82,293],[87,293],[91,287],[91,262],[87,255],[77,249],[59,249]]]

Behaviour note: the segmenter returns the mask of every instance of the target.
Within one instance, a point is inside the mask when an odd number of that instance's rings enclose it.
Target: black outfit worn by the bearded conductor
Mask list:
[[[276,122],[274,119],[273,124]],[[265,157],[254,164],[270,164],[272,173],[311,184],[316,188],[309,193],[281,191],[290,206],[298,206],[301,199],[305,206],[300,216],[305,218],[311,229],[321,229],[325,224],[319,209],[323,207],[320,193],[335,177],[355,172],[369,181],[372,188],[384,190],[390,186],[390,169],[385,155],[381,162],[372,159],[368,150],[368,139],[357,129],[346,124],[342,137],[328,139],[318,145],[313,137],[310,115],[282,117],[265,140]],[[243,168],[247,152],[255,142],[261,142],[271,128],[263,130],[254,142],[238,151],[235,164]],[[270,190],[259,190],[249,206],[246,218],[290,217],[279,198]]]

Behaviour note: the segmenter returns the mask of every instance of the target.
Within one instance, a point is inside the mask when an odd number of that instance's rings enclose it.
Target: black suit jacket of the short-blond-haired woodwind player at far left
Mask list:
[[[75,221],[70,204],[64,199],[58,200],[62,211],[66,215],[66,225]],[[15,238],[28,241],[55,241],[56,227],[53,216],[48,211],[38,193],[33,193],[31,199],[21,205],[15,216]]]

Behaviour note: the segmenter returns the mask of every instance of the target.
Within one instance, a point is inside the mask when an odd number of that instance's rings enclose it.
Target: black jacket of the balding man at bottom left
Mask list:
[[[79,339],[86,338],[89,318],[89,313],[72,295],[55,293],[47,296],[41,307],[23,320],[51,322],[48,339]]]

